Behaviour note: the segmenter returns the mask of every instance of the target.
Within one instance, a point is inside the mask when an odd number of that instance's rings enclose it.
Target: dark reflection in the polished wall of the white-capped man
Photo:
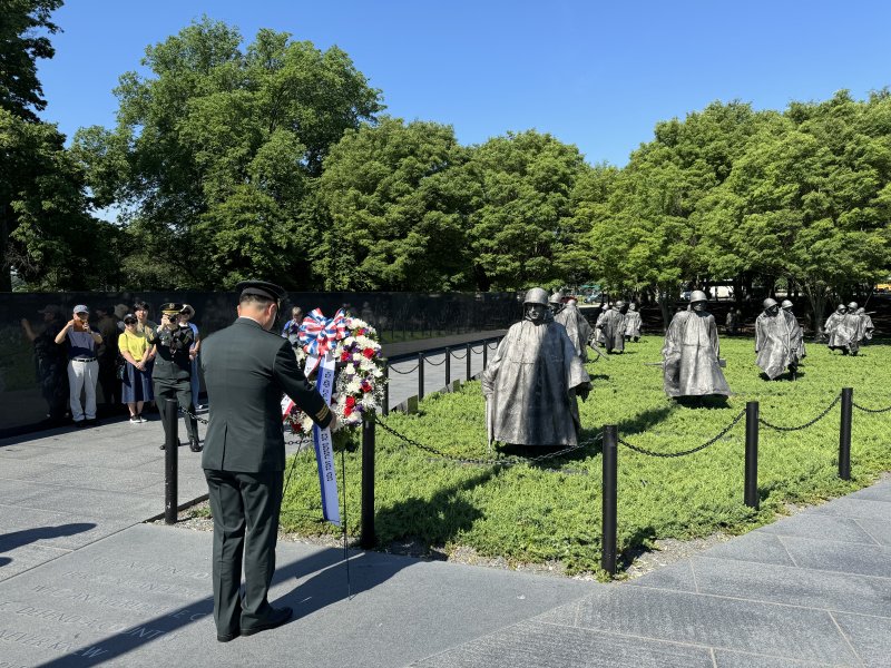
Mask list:
[[[56,335],[62,328],[62,310],[49,304],[38,313],[43,316],[42,332],[35,332],[27,318],[22,318],[21,326],[25,335],[35,344],[37,380],[47,402],[47,418],[51,422],[61,422],[68,403],[68,357],[65,350],[56,344]]]

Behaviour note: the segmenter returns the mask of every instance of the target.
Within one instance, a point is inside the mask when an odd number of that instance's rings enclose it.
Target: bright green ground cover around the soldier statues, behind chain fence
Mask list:
[[[747,401],[761,403],[767,422],[794,426],[823,411],[843,386],[854,403],[891,404],[891,345],[865,346],[856,357],[809,344],[800,380],[766,381],[755,366],[753,340],[725,338],[722,356],[734,394],[726,406],[689,407],[668,400],[662,386],[662,336],[645,336],[623,355],[588,364],[594,391],[580,404],[582,439],[617,424],[619,436],[658,452],[699,445],[721,432]],[[785,376],[783,376],[785,377]],[[742,533],[774,520],[786,503],[845,494],[891,470],[891,412],[854,410],[851,481],[838,478],[840,406],[802,431],[761,428],[761,509],[743,504],[745,420],[714,445],[676,459],[638,454],[619,445],[618,549],[629,553],[656,538],[695,538],[715,531]],[[400,433],[458,458],[487,459],[484,402],[479,383],[454,394],[431,395],[414,415],[385,422]],[[496,455],[503,454],[500,451]],[[564,473],[547,469],[564,466]],[[341,458],[337,475],[342,479]],[[347,532],[360,522],[361,452],[345,452]],[[342,482],[342,480],[341,480]],[[560,561],[570,573],[597,572],[600,560],[599,445],[545,465],[462,465],[438,460],[376,430],[378,543],[411,539],[449,553],[472,548],[511,563]],[[343,501],[343,500],[342,500]],[[321,520],[313,456],[297,455],[282,510],[282,525],[303,534],[335,533]],[[603,576],[603,573],[598,573]]]

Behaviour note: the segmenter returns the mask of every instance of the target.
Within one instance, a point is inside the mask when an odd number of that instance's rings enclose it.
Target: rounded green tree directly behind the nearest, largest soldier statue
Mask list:
[[[473,277],[481,291],[518,289],[564,278],[561,254],[578,238],[571,195],[585,171],[578,148],[535,130],[474,147],[470,216]]]

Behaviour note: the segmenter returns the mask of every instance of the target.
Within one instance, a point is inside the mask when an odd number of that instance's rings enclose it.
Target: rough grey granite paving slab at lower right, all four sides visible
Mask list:
[[[538,619],[772,657],[856,660],[832,617],[823,610],[717,596],[613,586]]]

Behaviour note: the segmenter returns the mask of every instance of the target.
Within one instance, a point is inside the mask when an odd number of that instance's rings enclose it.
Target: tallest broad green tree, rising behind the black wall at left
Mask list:
[[[337,48],[266,29],[241,45],[204,18],[149,47],[151,76],[127,72],[115,91],[117,127],[76,136],[100,203],[124,212],[134,285],[306,285],[307,195],[330,147],[382,108],[379,91]]]

